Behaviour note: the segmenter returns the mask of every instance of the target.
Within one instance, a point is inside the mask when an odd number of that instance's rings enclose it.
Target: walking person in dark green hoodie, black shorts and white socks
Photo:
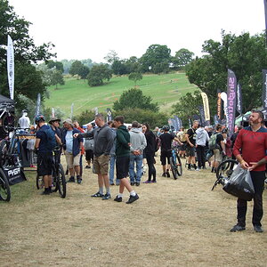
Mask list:
[[[117,116],[114,119],[114,125],[117,128],[116,138],[116,171],[117,179],[119,179],[119,193],[114,201],[122,202],[123,193],[126,188],[130,193],[130,198],[126,204],[131,204],[136,201],[139,196],[133,190],[130,182],[127,180],[130,163],[130,134],[124,125],[125,117]]]

